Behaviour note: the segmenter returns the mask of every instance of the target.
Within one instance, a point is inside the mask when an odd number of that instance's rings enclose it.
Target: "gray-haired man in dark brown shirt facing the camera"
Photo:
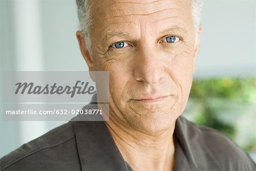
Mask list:
[[[3,157],[1,170],[256,170],[228,137],[180,116],[200,47],[199,0],[77,5],[82,56],[109,71],[109,121],[64,124]]]

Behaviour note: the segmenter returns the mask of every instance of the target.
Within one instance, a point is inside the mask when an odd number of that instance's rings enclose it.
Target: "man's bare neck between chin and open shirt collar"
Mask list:
[[[111,119],[105,123],[123,158],[134,170],[173,170],[175,123],[159,134],[144,134]]]

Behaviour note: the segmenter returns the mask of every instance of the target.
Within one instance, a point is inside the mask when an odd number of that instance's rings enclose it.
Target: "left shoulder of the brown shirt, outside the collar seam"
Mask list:
[[[75,158],[76,153],[75,133],[69,122],[2,157],[0,170],[54,170],[62,168],[58,166],[63,163],[60,160]]]

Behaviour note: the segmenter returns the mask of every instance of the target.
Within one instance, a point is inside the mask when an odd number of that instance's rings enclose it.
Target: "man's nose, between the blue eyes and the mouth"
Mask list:
[[[160,53],[155,48],[139,49],[134,59],[134,77],[137,81],[156,84],[164,74],[164,66]]]

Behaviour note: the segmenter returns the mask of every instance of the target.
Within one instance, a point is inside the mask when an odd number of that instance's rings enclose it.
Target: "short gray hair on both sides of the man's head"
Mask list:
[[[92,53],[90,43],[90,26],[92,26],[92,8],[90,7],[92,0],[76,0],[77,14],[79,18],[79,30],[85,35],[86,48]],[[201,9],[202,0],[191,0],[192,1],[192,18],[195,27],[195,45],[198,39],[198,28],[201,24]]]

